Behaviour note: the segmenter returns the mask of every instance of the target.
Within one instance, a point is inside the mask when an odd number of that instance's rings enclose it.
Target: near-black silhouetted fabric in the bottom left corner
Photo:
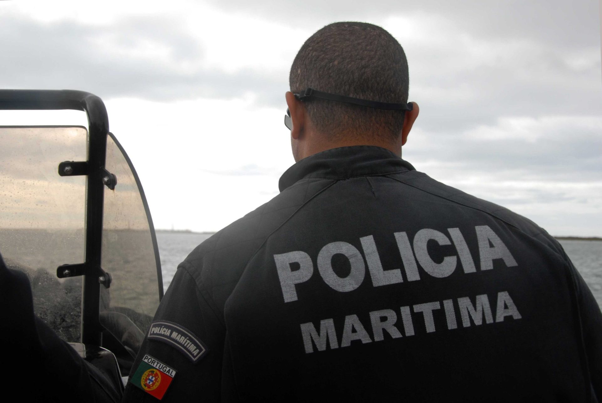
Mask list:
[[[38,319],[25,273],[0,255],[2,383],[19,402],[118,402],[120,392],[98,369]]]

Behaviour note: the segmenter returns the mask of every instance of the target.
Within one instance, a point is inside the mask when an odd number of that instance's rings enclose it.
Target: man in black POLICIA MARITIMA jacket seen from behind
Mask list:
[[[600,398],[602,315],[559,243],[400,158],[399,43],[327,25],[290,86],[297,163],[179,265],[126,400]]]

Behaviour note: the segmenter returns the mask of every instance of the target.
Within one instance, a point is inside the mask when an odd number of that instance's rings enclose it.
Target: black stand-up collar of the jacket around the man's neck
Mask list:
[[[318,152],[291,166],[280,178],[282,192],[306,178],[346,179],[386,175],[414,167],[393,152],[376,146],[349,146]]]

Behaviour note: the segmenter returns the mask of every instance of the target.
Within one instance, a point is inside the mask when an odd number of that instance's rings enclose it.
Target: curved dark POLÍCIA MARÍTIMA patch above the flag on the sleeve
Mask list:
[[[146,338],[175,347],[194,364],[205,357],[207,352],[206,346],[194,333],[184,326],[178,325],[178,323],[168,322],[167,320],[152,322]]]

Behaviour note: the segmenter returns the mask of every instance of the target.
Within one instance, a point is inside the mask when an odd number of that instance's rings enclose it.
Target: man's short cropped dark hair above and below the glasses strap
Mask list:
[[[303,43],[289,76],[291,91],[312,89],[380,102],[408,102],[408,61],[402,46],[383,28],[335,22]],[[342,102],[305,102],[309,118],[330,137],[357,133],[397,139],[405,111]]]

